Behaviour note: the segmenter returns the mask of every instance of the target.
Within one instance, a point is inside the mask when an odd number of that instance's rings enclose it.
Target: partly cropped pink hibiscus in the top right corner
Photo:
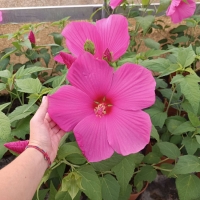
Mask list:
[[[182,20],[191,17],[195,10],[195,0],[172,0],[167,9],[166,15],[170,16],[173,23],[179,23]]]

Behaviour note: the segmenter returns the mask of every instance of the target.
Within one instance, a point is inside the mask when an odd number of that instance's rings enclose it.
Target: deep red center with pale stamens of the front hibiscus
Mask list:
[[[105,97],[99,98],[94,101],[94,113],[97,117],[103,117],[108,114],[112,109],[111,102]]]

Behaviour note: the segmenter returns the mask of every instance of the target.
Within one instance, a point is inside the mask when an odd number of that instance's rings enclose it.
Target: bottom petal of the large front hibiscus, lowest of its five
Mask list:
[[[74,135],[89,162],[105,160],[114,153],[108,144],[105,117],[86,117],[75,127]]]

